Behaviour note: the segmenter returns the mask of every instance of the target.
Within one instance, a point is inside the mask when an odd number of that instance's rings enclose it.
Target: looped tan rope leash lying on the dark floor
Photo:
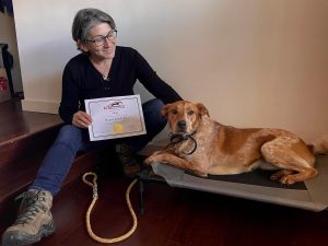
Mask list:
[[[93,179],[92,179],[92,183],[86,179],[87,176],[93,176]],[[132,189],[132,187],[136,185],[137,183],[137,178],[129,185],[127,191],[126,191],[126,200],[127,200],[127,204],[128,204],[128,209],[130,211],[130,214],[132,216],[132,220],[133,220],[133,225],[132,227],[130,229],[130,231],[128,231],[126,234],[121,235],[121,236],[118,236],[118,237],[113,237],[113,238],[104,238],[104,237],[99,237],[97,235],[94,234],[94,232],[92,231],[92,227],[91,227],[91,222],[90,222],[90,214],[91,214],[91,211],[95,204],[95,202],[97,201],[98,199],[98,191],[97,191],[97,175],[95,173],[92,173],[92,172],[89,172],[89,173],[85,173],[82,177],[82,180],[92,187],[93,189],[93,199],[92,199],[92,202],[90,203],[89,206],[89,209],[86,211],[86,230],[87,230],[87,233],[96,242],[98,243],[103,243],[103,244],[113,244],[113,243],[117,243],[117,242],[121,242],[126,238],[128,238],[129,236],[131,236],[133,234],[133,232],[136,231],[137,229],[137,224],[138,224],[138,221],[137,221],[137,216],[136,216],[136,213],[133,211],[133,208],[132,208],[132,204],[131,204],[131,201],[130,201],[130,191]]]

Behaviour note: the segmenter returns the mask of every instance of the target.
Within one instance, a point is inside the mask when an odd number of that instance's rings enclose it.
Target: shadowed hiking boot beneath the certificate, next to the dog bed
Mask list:
[[[116,153],[119,162],[122,165],[122,171],[126,177],[136,177],[140,172],[140,165],[134,159],[134,152],[127,143],[116,145]]]

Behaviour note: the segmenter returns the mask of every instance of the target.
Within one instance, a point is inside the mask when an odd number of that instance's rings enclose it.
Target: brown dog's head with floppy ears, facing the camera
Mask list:
[[[209,110],[200,103],[178,101],[166,104],[161,112],[173,132],[190,133],[197,130],[202,117],[209,117]]]

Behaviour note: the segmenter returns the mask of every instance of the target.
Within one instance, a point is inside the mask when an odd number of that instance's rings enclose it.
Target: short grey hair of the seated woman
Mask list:
[[[87,40],[90,30],[101,23],[108,23],[112,28],[116,28],[113,17],[97,9],[82,9],[75,14],[72,24],[72,37],[75,42]]]

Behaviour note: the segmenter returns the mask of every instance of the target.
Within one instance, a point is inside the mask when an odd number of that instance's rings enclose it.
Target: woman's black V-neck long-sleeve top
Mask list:
[[[137,80],[164,104],[181,99],[136,49],[117,46],[108,80],[104,80],[86,54],[79,54],[67,63],[59,115],[71,124],[73,114],[85,110],[84,99],[133,95]]]

